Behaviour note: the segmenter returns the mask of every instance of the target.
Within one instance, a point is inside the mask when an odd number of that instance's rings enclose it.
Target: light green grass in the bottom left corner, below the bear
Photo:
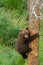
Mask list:
[[[24,59],[15,49],[0,45],[0,65],[24,65]]]

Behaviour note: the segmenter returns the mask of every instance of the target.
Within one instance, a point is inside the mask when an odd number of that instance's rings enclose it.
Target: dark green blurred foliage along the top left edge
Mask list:
[[[21,14],[27,8],[27,0],[0,0],[0,7],[11,10],[16,9]]]

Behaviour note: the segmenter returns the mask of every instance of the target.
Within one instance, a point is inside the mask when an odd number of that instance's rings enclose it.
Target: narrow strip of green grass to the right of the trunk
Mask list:
[[[43,21],[40,22],[39,60],[40,65],[43,65]]]

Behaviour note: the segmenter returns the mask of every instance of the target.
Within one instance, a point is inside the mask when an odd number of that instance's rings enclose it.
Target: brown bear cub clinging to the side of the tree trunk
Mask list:
[[[29,43],[38,36],[38,33],[30,36],[28,27],[20,31],[16,41],[16,49],[23,56],[23,58],[27,58],[27,53],[32,51],[29,47]]]

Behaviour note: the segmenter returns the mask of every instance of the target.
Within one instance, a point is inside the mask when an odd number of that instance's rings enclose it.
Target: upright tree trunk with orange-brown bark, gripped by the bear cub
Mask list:
[[[29,2],[29,29],[30,34],[39,33],[40,9],[38,0],[30,0]],[[32,31],[32,32],[31,32]],[[39,37],[30,43],[32,51],[28,54],[28,65],[39,65]]]

